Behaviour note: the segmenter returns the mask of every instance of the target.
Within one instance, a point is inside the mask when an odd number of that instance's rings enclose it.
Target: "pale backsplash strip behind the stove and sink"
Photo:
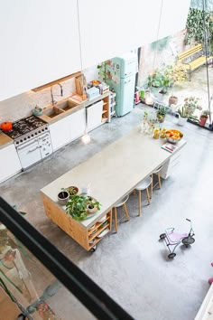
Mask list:
[[[83,72],[87,81],[97,79],[97,66],[89,68]],[[71,96],[76,90],[75,78],[60,82],[63,87],[63,97],[60,97],[60,87],[52,86],[54,100],[60,101]],[[32,114],[32,108],[38,105],[41,108],[51,104],[51,87],[38,92],[27,91],[22,94],[0,101],[0,123],[5,121],[14,122],[20,118],[28,117]]]

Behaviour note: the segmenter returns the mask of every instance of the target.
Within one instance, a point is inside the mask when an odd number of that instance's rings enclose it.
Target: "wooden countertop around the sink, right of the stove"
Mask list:
[[[99,95],[97,97],[95,97],[94,99],[91,99],[91,100],[84,100],[82,101],[81,103],[79,103],[76,107],[73,107],[73,108],[70,108],[69,110],[66,110],[62,113],[60,113],[59,115],[53,117],[53,118],[50,118],[49,116],[45,115],[44,113],[42,114],[42,116],[37,116],[38,118],[41,118],[43,121],[45,121],[46,123],[48,124],[52,124],[54,122],[57,122],[59,121],[61,118],[66,118],[68,117],[70,114],[74,113],[74,112],[77,112],[79,111],[80,109],[82,108],[87,108],[88,106],[91,106],[93,103],[101,100],[101,99],[104,99],[106,98],[107,96],[109,95],[109,91],[106,92],[105,94],[103,95]],[[71,99],[72,97],[69,97],[69,99]],[[60,105],[61,102],[63,101],[67,101],[68,99],[63,99],[63,100],[60,100],[58,101],[58,104]],[[56,106],[57,106],[57,103],[56,103]],[[52,105],[48,106],[47,108],[44,108],[44,112],[45,110],[49,109],[49,108],[52,108]]]

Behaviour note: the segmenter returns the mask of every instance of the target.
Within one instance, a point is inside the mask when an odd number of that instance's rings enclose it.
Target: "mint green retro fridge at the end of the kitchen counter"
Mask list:
[[[134,108],[137,55],[129,52],[106,62],[106,83],[116,91],[116,116],[125,116]]]

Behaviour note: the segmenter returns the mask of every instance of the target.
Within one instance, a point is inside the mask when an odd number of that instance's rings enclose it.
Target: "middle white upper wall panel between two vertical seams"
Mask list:
[[[83,69],[157,39],[161,1],[79,0]]]

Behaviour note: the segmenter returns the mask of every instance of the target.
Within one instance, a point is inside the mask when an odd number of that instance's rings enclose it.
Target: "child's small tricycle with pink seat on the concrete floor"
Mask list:
[[[190,219],[186,219],[190,221]],[[190,232],[189,233],[177,233],[174,232],[174,228],[167,228],[165,233],[160,234],[160,239],[165,240],[167,248],[170,251],[168,255],[169,259],[173,259],[176,256],[174,250],[180,245],[180,243],[184,244],[186,248],[190,246],[190,244],[194,243],[194,231],[192,229],[192,224],[190,221]],[[172,248],[172,249],[171,249]]]

